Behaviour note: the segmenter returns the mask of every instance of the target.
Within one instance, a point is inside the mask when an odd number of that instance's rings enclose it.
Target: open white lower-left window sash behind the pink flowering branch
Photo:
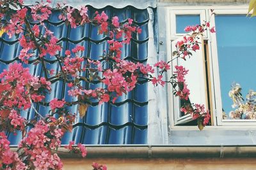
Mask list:
[[[182,40],[182,38],[172,41],[172,52],[176,50],[177,41]],[[206,86],[206,75],[205,75],[205,59],[204,59],[204,41],[202,36],[198,40],[200,50],[196,52],[191,51],[192,56],[183,59],[175,59],[172,63],[173,72],[175,71],[175,66],[184,66],[189,70],[188,74],[185,76],[186,83],[188,84],[188,89],[190,90],[189,100],[191,103],[204,104],[207,107],[207,86]],[[180,117],[180,99],[179,97],[173,96],[173,113],[174,113],[174,124],[185,124],[192,120],[191,115],[184,115]]]

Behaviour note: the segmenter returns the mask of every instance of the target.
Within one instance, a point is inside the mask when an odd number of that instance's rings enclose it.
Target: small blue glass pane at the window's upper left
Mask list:
[[[196,24],[200,24],[200,15],[176,15],[176,33],[186,33],[186,26]]]

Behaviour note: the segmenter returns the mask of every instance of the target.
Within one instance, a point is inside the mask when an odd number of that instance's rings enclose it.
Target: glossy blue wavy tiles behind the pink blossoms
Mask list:
[[[92,16],[97,9],[88,6],[89,15]],[[122,49],[122,58],[147,62],[147,43],[148,43],[148,12],[147,10],[138,10],[132,6],[127,6],[122,9],[116,9],[111,6],[102,8],[98,11],[106,11],[109,17],[118,16],[120,22],[126,22],[127,18],[133,18],[134,23],[142,29],[141,34],[134,34],[129,45],[124,45]],[[81,57],[89,57],[90,59],[100,59],[103,55],[103,50],[108,52],[108,43],[106,42],[108,35],[97,34],[98,27],[91,24],[79,26],[76,29],[71,29],[64,22],[58,19],[59,12],[53,11],[49,21],[45,25],[54,32],[55,36],[60,39],[63,49],[60,55],[63,56],[65,50],[71,50],[76,45],[85,47]],[[42,28],[44,31],[44,28]],[[9,39],[4,35],[0,40],[0,71],[8,68],[8,64],[18,61],[17,58],[21,47],[18,42],[18,37]],[[60,70],[58,62],[54,57],[46,57],[47,69]],[[29,67],[30,73],[37,76],[45,76],[42,71],[42,64],[35,64],[36,57],[29,61],[29,64],[23,64]],[[84,64],[86,59],[84,60]],[[48,75],[49,76],[49,75]],[[84,74],[84,76],[88,76]],[[102,87],[102,83],[86,83],[81,81],[81,84],[88,89]],[[46,102],[51,101],[54,97],[65,99],[67,101],[76,101],[75,98],[68,96],[67,90],[69,87],[58,80],[52,83],[52,93],[46,96]],[[67,144],[68,141],[74,140],[76,143],[84,144],[145,144],[147,143],[147,83],[140,81],[132,92],[119,97],[115,104],[104,103],[97,105],[93,101],[92,106],[88,108],[86,116],[81,119],[77,117],[74,124],[74,130],[66,133],[63,136],[62,143]],[[44,104],[36,105],[36,108],[45,115],[49,111],[49,106]],[[77,112],[77,104],[70,107],[73,113]],[[22,111],[22,116],[25,118],[33,118],[35,112],[33,110]],[[21,139],[21,134],[16,136],[9,135],[11,145],[17,145]]]

